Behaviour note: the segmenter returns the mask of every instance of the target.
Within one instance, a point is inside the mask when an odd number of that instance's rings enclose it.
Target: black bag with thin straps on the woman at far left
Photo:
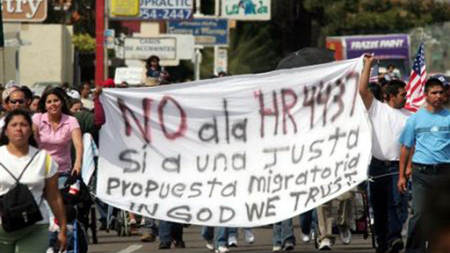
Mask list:
[[[27,226],[42,220],[41,211],[39,210],[39,206],[34,200],[30,189],[28,189],[28,186],[25,184],[20,183],[20,178],[34,160],[37,153],[39,153],[39,151],[33,155],[18,179],[16,179],[11,171],[6,169],[4,164],[1,164],[0,162],[0,166],[4,167],[8,174],[16,181],[15,186],[0,198],[1,226],[6,232],[18,231],[19,229],[26,228]],[[40,204],[41,203],[39,203],[39,205]]]

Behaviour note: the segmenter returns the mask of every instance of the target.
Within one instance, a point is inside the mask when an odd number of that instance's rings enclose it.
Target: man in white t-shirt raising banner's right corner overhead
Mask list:
[[[385,90],[385,103],[374,99],[368,89],[373,56],[364,56],[359,93],[373,125],[369,197],[375,219],[376,252],[398,253],[404,248],[401,229],[408,216],[406,195],[397,190],[399,178],[399,137],[411,112],[404,110],[406,84],[391,80]]]

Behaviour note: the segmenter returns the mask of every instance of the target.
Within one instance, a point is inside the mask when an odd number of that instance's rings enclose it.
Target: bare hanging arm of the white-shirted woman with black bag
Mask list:
[[[58,240],[62,251],[65,250],[67,244],[67,221],[65,220],[63,198],[58,190],[58,174],[45,180],[45,199],[49,202],[51,212],[58,219],[60,232],[58,234]]]

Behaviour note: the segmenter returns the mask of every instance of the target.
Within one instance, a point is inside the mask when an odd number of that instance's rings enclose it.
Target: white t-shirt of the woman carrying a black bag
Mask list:
[[[6,145],[2,145],[0,147],[0,162],[4,164],[6,169],[8,169],[8,171],[10,171],[15,178],[18,178],[25,166],[27,166],[27,163],[30,162],[30,159],[34,153],[37,151],[37,148],[30,146],[28,155],[16,157],[15,155],[9,153],[6,149]],[[51,176],[55,175],[57,171],[58,164],[56,164],[51,156],[47,155],[44,150],[40,150],[39,154],[34,157],[34,160],[28,166],[27,170],[25,170],[25,173],[20,179],[20,183],[27,185],[30,189],[37,205],[41,203],[39,205],[39,209],[41,210],[43,220],[37,222],[39,224],[49,223],[49,212],[47,211],[46,205],[44,205],[44,195],[42,195],[42,193],[44,193],[45,179],[51,178]],[[15,182],[15,179],[8,174],[4,167],[0,166],[0,195],[4,195],[8,192],[8,190],[13,188],[15,186]]]

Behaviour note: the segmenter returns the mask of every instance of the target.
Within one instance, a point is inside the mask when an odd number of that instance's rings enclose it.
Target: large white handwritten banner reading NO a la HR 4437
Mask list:
[[[155,219],[251,227],[366,180],[362,59],[105,89],[97,195]]]

